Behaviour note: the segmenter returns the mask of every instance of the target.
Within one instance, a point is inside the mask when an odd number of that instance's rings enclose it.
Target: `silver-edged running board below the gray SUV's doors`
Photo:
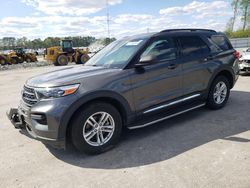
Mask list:
[[[183,111],[180,111],[180,112],[177,112],[175,114],[172,114],[172,115],[169,115],[169,116],[166,116],[164,118],[160,118],[160,119],[157,119],[157,120],[154,120],[154,121],[151,121],[149,123],[146,123],[146,124],[143,124],[143,125],[137,125],[137,126],[133,126],[133,127],[128,127],[128,129],[132,130],[132,129],[139,129],[139,128],[143,128],[143,127],[147,127],[149,125],[152,125],[152,124],[155,124],[155,123],[159,123],[161,121],[164,121],[164,120],[167,120],[167,119],[170,119],[172,117],[175,117],[175,116],[178,116],[178,115],[181,115],[181,114],[184,114],[186,112],[189,112],[189,111],[192,111],[192,110],[195,110],[197,108],[201,108],[203,106],[205,106],[206,103],[203,103],[203,104],[200,104],[200,105],[197,105],[197,106],[194,106],[192,108],[189,108],[189,109],[186,109],[186,110],[183,110]]]

